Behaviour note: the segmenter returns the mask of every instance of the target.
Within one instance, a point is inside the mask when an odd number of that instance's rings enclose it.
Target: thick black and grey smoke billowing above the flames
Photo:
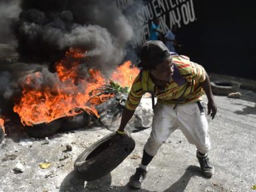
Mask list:
[[[0,35],[17,41],[19,53],[19,62],[0,61],[1,109],[11,110],[19,101],[19,85],[25,75],[39,71],[43,74],[37,79],[39,85],[57,82],[56,75],[47,70],[48,65],[63,59],[70,47],[86,52],[88,59],[83,61],[81,73],[87,67],[103,72],[114,69],[123,60],[125,44],[133,35],[115,0],[1,0],[0,5],[0,24],[4,26],[0,27]],[[7,101],[11,101],[11,107]]]

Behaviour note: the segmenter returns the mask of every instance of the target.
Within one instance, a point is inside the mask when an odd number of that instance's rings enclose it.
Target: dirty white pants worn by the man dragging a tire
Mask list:
[[[199,152],[209,151],[211,143],[208,123],[205,113],[201,113],[197,103],[177,105],[175,110],[171,104],[157,103],[154,107],[152,131],[145,144],[145,151],[155,156],[159,147],[175,129],[180,129],[189,143],[195,145]]]

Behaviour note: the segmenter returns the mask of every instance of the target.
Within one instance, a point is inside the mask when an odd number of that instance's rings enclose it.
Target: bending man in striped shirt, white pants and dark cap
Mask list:
[[[141,164],[131,176],[129,185],[141,188],[147,174],[147,165],[169,135],[178,128],[189,143],[197,147],[197,158],[203,175],[211,177],[214,169],[207,157],[211,143],[203,111],[203,92],[208,99],[208,115],[214,118],[217,108],[205,69],[189,61],[189,57],[171,55],[161,41],[148,41],[142,45],[140,57],[141,63],[138,66],[142,67],[142,71],[129,92],[117,137],[125,135],[125,126],[144,93],[153,92],[157,104],[153,109],[152,131],[145,144]]]

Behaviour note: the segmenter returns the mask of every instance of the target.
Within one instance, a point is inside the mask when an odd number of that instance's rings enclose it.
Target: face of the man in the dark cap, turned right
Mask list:
[[[173,59],[171,57],[165,59],[163,63],[156,66],[156,69],[149,70],[149,73],[161,81],[171,81],[171,75],[173,75]]]

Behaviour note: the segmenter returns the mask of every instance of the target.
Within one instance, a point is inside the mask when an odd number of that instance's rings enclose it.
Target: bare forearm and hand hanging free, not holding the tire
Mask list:
[[[205,71],[205,81],[201,82],[201,85],[203,87],[203,91],[205,91],[205,94],[208,99],[208,115],[211,115],[212,119],[214,119],[216,113],[217,113],[217,107],[215,105],[215,101],[213,99],[213,93],[211,92],[211,83],[208,74]]]

